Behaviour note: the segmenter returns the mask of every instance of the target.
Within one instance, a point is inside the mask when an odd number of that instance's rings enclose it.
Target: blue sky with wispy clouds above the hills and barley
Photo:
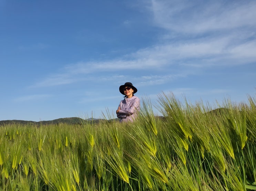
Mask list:
[[[247,102],[255,10],[254,0],[0,0],[0,120],[102,118],[125,82],[153,105],[162,92]]]

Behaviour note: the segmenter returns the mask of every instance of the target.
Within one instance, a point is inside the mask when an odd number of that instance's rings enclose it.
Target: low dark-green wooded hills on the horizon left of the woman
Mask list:
[[[81,119],[79,117],[68,117],[68,118],[59,118],[50,121],[24,121],[24,120],[2,120],[0,121],[0,126],[4,124],[31,124],[31,125],[47,125],[47,124],[59,124],[59,123],[66,123],[66,124],[82,124],[84,122],[89,123],[99,123],[100,121],[104,121],[106,119]]]

